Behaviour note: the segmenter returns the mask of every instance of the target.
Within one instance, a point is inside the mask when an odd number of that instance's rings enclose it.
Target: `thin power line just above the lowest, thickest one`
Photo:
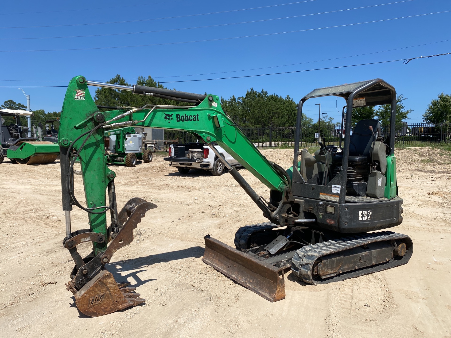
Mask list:
[[[400,48],[394,48],[394,49],[388,49],[388,50],[380,50],[380,51],[364,53],[364,54],[357,54],[357,55],[350,55],[350,56],[341,56],[341,57],[338,57],[338,58],[299,62],[299,63],[295,63],[295,64],[282,64],[282,65],[278,65],[278,66],[259,67],[259,68],[250,68],[250,69],[241,69],[241,70],[230,70],[230,71],[226,71],[226,72],[216,72],[216,73],[201,73],[201,74],[172,75],[172,76],[155,76],[154,78],[182,78],[182,77],[187,77],[187,76],[201,76],[201,75],[213,75],[213,74],[224,74],[224,73],[236,73],[236,72],[246,72],[246,71],[250,71],[250,70],[260,70],[260,69],[271,69],[271,68],[278,68],[278,67],[295,66],[295,65],[299,65],[299,64],[310,64],[310,63],[322,62],[322,61],[347,59],[347,58],[352,58],[352,57],[356,57],[356,56],[385,53],[385,52],[390,52],[390,51],[393,51],[393,50],[402,50],[402,49],[419,47],[419,46],[428,46],[428,45],[433,45],[433,44],[436,44],[436,43],[442,43],[442,42],[448,42],[448,41],[451,41],[451,39],[449,39],[449,40],[442,40],[442,41],[428,42],[428,43],[423,43],[423,44],[414,45],[414,46],[406,46],[406,47],[400,47]],[[134,79],[135,78],[126,78],[125,80],[134,80]],[[9,82],[69,82],[69,80],[0,80],[0,81],[9,81]],[[95,81],[108,81],[108,80],[95,80]]]

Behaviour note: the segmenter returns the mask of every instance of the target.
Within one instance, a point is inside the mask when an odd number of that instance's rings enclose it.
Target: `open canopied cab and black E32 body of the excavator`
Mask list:
[[[309,155],[308,151],[299,151],[302,133],[302,108],[304,102],[308,99],[324,96],[339,96],[346,100],[346,106],[343,107],[343,116],[345,116],[344,145],[341,149],[338,149],[338,152],[333,154],[331,154],[332,151],[329,147],[326,149],[326,145],[322,145],[323,150],[317,151],[315,159],[312,160],[313,156]],[[367,152],[369,151],[369,153],[366,154],[367,156],[364,156],[364,154],[357,152],[352,154],[356,156],[350,156],[353,107],[385,104],[391,104],[390,132],[387,138],[385,140],[382,139],[381,129],[376,120],[360,121],[363,123],[359,122],[360,124],[355,128],[360,126],[360,129],[364,129],[363,132],[367,135],[365,140],[368,140],[366,142],[369,145]],[[346,112],[344,111],[345,108]],[[395,118],[395,88],[380,78],[334,87],[318,88],[299,101],[294,160],[291,169],[293,171],[292,190],[296,198],[304,201],[303,210],[306,218],[316,219],[316,227],[339,233],[357,233],[390,228],[402,222],[400,214],[403,201],[397,197],[394,157]],[[368,126],[368,124],[374,125]],[[354,137],[357,137],[355,130]],[[377,155],[381,155],[381,151],[383,151],[383,155],[379,159],[381,165],[373,158],[376,156],[374,154],[377,151],[379,151]],[[360,152],[362,151],[360,150]],[[308,158],[308,156],[311,156],[311,158]],[[334,156],[336,156],[336,159],[340,158],[339,164],[334,163],[336,162],[333,160]],[[368,159],[365,159],[366,157]],[[364,168],[366,174],[356,173],[353,170],[354,164],[351,162],[351,159],[362,161],[362,164],[358,164]],[[306,177],[303,173],[303,169],[305,170],[306,165],[308,166],[308,164],[305,164],[308,160],[316,161],[314,163],[318,166],[316,171],[318,177],[316,179]],[[320,161],[321,163],[318,163]],[[329,166],[336,167],[333,175],[331,175],[332,170],[330,170]],[[382,169],[380,168],[381,166]],[[331,175],[331,178],[327,177],[326,179],[324,177],[326,175]],[[352,183],[351,186],[350,183]],[[370,196],[368,196],[367,184],[368,190],[370,185],[379,185],[377,187],[378,195],[369,193]],[[364,186],[364,193],[353,196],[356,194],[350,193],[350,190],[355,185]],[[387,210],[392,211],[387,212]],[[369,211],[371,212],[371,217],[368,219],[367,216],[366,219],[363,219],[362,212],[368,214]]]

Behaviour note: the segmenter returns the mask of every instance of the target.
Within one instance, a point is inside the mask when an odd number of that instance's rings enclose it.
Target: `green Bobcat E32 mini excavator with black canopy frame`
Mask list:
[[[88,86],[132,91],[184,105],[117,107],[100,112]],[[321,96],[346,100],[345,137],[340,147],[319,142],[321,148],[313,156],[299,150],[302,107],[306,100]],[[353,107],[385,104],[391,104],[389,129],[381,130],[377,120],[366,119],[356,124],[351,135]],[[58,140],[66,217],[63,244],[75,262],[66,286],[79,311],[88,316],[105,315],[145,301],[129,283],[117,283],[105,265],[117,250],[133,241],[133,229],[156,205],[135,197],[118,209],[116,174],[106,165],[105,131],[132,125],[165,128],[189,132],[207,143],[268,222],[239,228],[235,248],[205,236],[202,260],[267,300],[278,301],[285,297],[284,273],[290,269],[305,283],[322,284],[389,269],[410,259],[413,245],[408,236],[373,232],[402,222],[394,156],[395,114],[395,88],[382,79],[315,89],[299,101],[293,166],[285,170],[258,151],[222,110],[216,95],[73,78],[61,110]],[[258,196],[213,142],[270,189],[269,201]],[[74,192],[77,158],[86,205]],[[72,231],[73,206],[87,211],[89,228]],[[77,246],[86,242],[92,243],[92,252],[82,257]]]

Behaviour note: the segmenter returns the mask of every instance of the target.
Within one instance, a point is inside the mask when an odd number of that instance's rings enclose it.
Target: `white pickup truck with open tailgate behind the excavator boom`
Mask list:
[[[216,143],[213,145],[230,165],[240,166],[238,161],[221,146]],[[181,174],[188,174],[191,169],[204,169],[211,171],[213,176],[220,176],[227,169],[209,146],[199,142],[170,145],[169,157],[165,157],[164,160],[169,161],[169,165],[177,168]]]

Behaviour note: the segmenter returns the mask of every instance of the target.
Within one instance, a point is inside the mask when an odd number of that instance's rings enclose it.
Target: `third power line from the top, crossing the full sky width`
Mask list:
[[[315,31],[315,30],[327,29],[327,28],[349,27],[349,26],[356,26],[356,25],[361,25],[361,24],[365,24],[365,23],[377,23],[377,22],[384,22],[384,21],[391,21],[391,20],[398,20],[398,19],[405,19],[405,18],[415,18],[415,17],[425,16],[425,15],[432,15],[432,14],[449,13],[449,12],[451,12],[451,10],[446,10],[446,11],[441,11],[441,12],[433,12],[433,13],[426,13],[426,14],[409,15],[409,16],[398,17],[398,18],[389,18],[389,19],[382,19],[382,20],[365,21],[365,22],[361,22],[361,23],[348,23],[348,24],[344,24],[344,25],[336,25],[336,26],[328,26],[328,27],[299,29],[299,30],[287,31],[287,32],[245,35],[245,36],[241,36],[241,37],[223,37],[223,38],[217,38],[217,39],[181,41],[181,42],[165,42],[165,43],[154,43],[154,44],[148,44],[148,45],[133,45],[133,46],[86,47],[86,48],[64,48],[64,49],[38,49],[38,50],[0,50],[0,52],[3,52],[3,53],[11,53],[11,52],[54,52],[54,51],[71,51],[71,50],[101,50],[101,49],[118,49],[118,48],[134,48],[134,47],[149,47],[149,46],[180,45],[180,44],[195,43],[195,42],[224,41],[224,40],[242,39],[242,38],[247,38],[247,37],[266,37],[266,36],[271,36],[271,35],[281,35],[281,34],[286,34],[286,33],[308,32],[308,31]]]

